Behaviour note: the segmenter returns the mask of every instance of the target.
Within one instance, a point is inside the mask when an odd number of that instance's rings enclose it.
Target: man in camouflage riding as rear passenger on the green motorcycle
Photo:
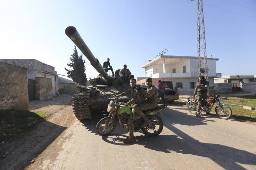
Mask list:
[[[158,91],[157,88],[152,85],[152,79],[150,77],[146,78],[147,91],[139,88],[140,92],[146,97],[142,103],[134,105],[134,111],[144,120],[141,127],[144,127],[150,123],[150,120],[144,115],[142,111],[147,109],[155,108],[158,101]]]

